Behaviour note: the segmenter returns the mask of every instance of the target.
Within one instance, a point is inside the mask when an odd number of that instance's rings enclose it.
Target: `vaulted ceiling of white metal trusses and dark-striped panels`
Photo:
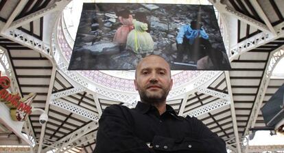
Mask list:
[[[44,125],[38,112],[25,122],[23,133],[35,141],[34,152],[92,152],[102,111],[113,104],[134,107],[138,100],[131,79],[67,70],[71,47],[61,16],[69,2],[0,1],[1,64],[12,90],[21,96],[36,92],[33,107],[49,116]],[[284,1],[211,3],[222,18],[232,70],[179,72],[167,102],[179,115],[202,120],[233,152],[244,152],[250,150],[241,143],[249,128],[265,126],[259,109],[284,83],[271,77],[284,54]],[[27,144],[0,129],[0,145]]]

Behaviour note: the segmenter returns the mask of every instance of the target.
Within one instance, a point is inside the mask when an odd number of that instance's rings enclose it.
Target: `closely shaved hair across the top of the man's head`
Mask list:
[[[141,65],[143,65],[144,62],[148,62],[148,61],[156,61],[156,62],[159,62],[161,64],[164,64],[164,66],[168,68],[169,76],[171,77],[171,68],[169,66],[169,63],[167,63],[167,61],[163,57],[158,56],[158,55],[148,55],[138,62],[137,66],[136,66],[136,70],[135,70],[135,79],[137,79],[137,70],[140,70]]]

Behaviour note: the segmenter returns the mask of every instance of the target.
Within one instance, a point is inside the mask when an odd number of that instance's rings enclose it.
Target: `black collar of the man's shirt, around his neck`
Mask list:
[[[135,109],[137,109],[141,113],[147,113],[148,111],[150,111],[150,109],[152,107],[153,107],[152,105],[149,105],[149,104],[146,104],[146,103],[143,103],[143,102],[137,102]],[[166,112],[170,113],[171,115],[173,115],[177,119],[180,119],[178,117],[178,114],[176,114],[176,111],[174,111],[173,107],[171,107],[169,105],[166,105]]]

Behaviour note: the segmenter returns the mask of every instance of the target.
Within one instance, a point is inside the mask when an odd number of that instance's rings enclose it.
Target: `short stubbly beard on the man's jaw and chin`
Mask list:
[[[150,92],[147,91],[147,88],[141,88],[138,90],[140,99],[142,102],[146,102],[150,105],[158,105],[162,102],[165,102],[167,95],[169,94],[169,87],[162,87],[161,92]]]

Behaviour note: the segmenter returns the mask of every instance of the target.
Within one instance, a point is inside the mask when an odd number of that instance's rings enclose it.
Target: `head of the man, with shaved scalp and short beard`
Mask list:
[[[137,64],[134,85],[142,102],[165,105],[173,85],[169,64],[158,55],[143,58]]]

